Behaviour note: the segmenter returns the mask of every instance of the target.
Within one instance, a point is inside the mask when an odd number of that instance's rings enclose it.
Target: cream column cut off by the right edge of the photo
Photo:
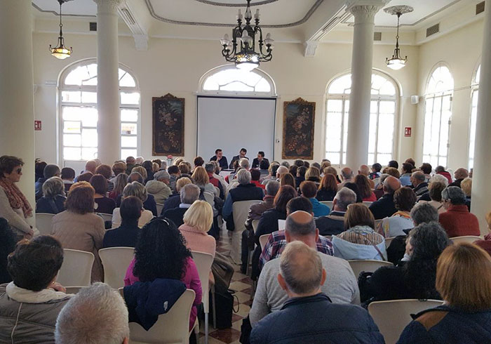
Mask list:
[[[487,234],[485,215],[491,211],[491,1],[486,1],[483,54],[480,65],[476,148],[472,178],[471,211],[479,219],[481,234]]]

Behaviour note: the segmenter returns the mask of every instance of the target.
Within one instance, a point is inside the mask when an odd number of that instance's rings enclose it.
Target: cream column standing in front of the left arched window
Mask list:
[[[120,157],[118,12],[121,0],[97,4],[97,156],[103,164]]]

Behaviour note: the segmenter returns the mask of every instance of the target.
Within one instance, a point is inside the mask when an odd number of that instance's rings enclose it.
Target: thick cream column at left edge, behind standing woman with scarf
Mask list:
[[[0,47],[0,155],[25,162],[18,187],[34,209],[31,1],[0,1]],[[48,46],[42,53],[49,54]]]

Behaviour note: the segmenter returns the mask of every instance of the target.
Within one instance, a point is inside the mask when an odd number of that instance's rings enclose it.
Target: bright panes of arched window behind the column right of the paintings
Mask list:
[[[351,74],[337,77],[328,86],[325,158],[335,165],[346,164],[349,93],[351,93]],[[368,142],[368,164],[370,165],[377,161],[392,159],[398,87],[385,74],[374,71],[371,93],[370,139]]]

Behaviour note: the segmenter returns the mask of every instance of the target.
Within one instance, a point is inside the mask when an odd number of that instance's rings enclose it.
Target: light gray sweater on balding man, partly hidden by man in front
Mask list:
[[[318,252],[327,278],[321,291],[332,300],[332,303],[360,304],[358,282],[347,260],[328,256]],[[286,291],[278,283],[280,273],[280,258],[269,260],[262,268],[257,289],[254,295],[253,307],[249,312],[250,324],[255,326],[263,317],[271,312],[280,310],[288,300]]]

